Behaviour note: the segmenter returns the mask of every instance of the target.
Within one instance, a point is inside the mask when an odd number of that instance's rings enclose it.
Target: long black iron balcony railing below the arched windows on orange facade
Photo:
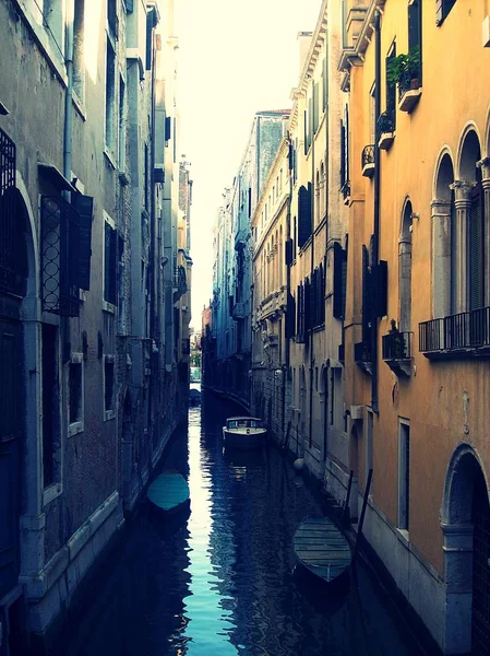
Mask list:
[[[419,350],[428,358],[490,353],[490,307],[419,324]]]

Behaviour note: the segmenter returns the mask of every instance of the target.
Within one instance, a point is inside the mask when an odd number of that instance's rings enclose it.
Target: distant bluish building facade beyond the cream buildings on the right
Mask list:
[[[251,402],[251,216],[266,183],[289,110],[258,112],[234,178],[225,190],[214,233],[212,338],[215,359],[204,365],[217,391],[246,408]],[[207,339],[203,332],[203,339]],[[204,352],[207,351],[203,349]],[[214,373],[210,370],[215,370]]]

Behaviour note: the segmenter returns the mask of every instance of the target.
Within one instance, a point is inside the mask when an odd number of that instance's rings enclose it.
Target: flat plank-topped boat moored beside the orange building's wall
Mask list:
[[[326,517],[306,517],[295,534],[294,549],[299,564],[325,583],[348,572],[349,543]]]

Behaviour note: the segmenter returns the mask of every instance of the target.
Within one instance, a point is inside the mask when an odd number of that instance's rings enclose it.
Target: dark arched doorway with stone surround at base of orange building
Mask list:
[[[450,654],[488,654],[490,644],[490,507],[478,454],[461,444],[447,468],[441,511],[444,537],[445,634]]]

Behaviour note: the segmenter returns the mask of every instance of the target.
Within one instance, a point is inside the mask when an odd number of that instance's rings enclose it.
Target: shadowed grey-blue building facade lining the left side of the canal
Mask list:
[[[171,14],[0,1],[2,656],[55,633],[183,419]]]

